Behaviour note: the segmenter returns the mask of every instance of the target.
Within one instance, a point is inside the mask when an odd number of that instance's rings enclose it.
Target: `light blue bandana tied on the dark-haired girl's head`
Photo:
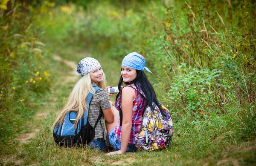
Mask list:
[[[122,66],[129,67],[136,70],[146,70],[152,73],[147,67],[145,67],[145,58],[137,52],[132,52],[125,56],[122,61]]]

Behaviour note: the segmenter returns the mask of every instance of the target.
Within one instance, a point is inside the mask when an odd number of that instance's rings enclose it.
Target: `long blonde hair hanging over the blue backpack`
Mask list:
[[[103,80],[98,83],[98,87],[106,88],[106,76],[103,73]],[[81,79],[76,83],[74,89],[72,90],[70,96],[67,99],[67,103],[62,109],[61,113],[58,115],[57,119],[52,125],[52,129],[56,126],[56,124],[61,124],[69,111],[77,111],[76,114],[76,122],[74,126],[77,126],[79,119],[84,116],[84,109],[88,109],[89,106],[86,104],[87,95],[92,93],[95,95],[95,90],[93,89],[90,73],[85,74]]]

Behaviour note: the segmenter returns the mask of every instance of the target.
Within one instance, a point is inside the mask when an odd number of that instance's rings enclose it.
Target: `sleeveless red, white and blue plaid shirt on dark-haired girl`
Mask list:
[[[143,91],[140,87],[140,84],[139,83],[137,83],[137,84],[138,84],[138,87],[139,87],[139,91],[143,93]],[[142,120],[143,120],[142,119],[142,117],[143,117],[142,113],[143,113],[143,109],[144,109],[144,106],[145,106],[146,99],[140,92],[138,92],[137,87],[134,84],[131,84],[131,85],[128,85],[128,86],[132,87],[134,89],[134,92],[135,92],[135,97],[134,97],[133,105],[132,105],[131,135],[130,135],[128,143],[135,144],[135,135],[140,132],[140,127],[141,127]],[[122,109],[121,93],[119,93],[119,96],[116,100],[116,109],[117,110],[119,110],[118,109],[119,108],[118,107],[119,103],[120,103],[120,108]],[[120,119],[119,119],[119,121],[117,123],[117,126],[115,128],[115,135],[116,135],[116,138],[118,140],[121,140],[121,130],[122,130],[122,126],[120,126]]]

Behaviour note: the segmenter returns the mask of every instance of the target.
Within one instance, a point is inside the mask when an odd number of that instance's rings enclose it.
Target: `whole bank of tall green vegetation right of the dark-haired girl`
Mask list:
[[[199,1],[181,9],[168,8],[162,31],[148,40],[156,87],[167,92],[177,132],[255,140],[255,4]]]

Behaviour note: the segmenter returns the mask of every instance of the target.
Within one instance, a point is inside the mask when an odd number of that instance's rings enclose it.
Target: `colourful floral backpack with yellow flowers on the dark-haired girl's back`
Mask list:
[[[152,103],[154,110],[150,106],[145,109],[140,133],[135,135],[136,147],[140,151],[160,150],[172,143],[172,117],[169,110],[159,104],[165,116],[155,103]]]

